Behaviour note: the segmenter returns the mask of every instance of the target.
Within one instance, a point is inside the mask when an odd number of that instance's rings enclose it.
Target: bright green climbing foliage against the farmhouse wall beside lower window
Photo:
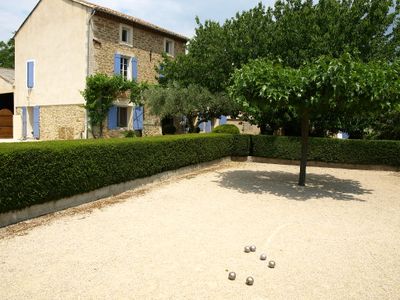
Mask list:
[[[95,74],[86,78],[86,88],[82,92],[86,100],[91,127],[99,128],[99,137],[103,137],[104,120],[115,100],[122,93],[130,91],[130,101],[140,101],[142,88],[135,81],[128,81],[122,76],[109,77],[105,74]],[[93,133],[93,136],[95,134]]]

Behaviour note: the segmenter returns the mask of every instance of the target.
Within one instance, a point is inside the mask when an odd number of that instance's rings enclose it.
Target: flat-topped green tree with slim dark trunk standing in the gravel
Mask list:
[[[346,118],[395,107],[400,102],[400,63],[364,63],[350,54],[321,57],[301,68],[254,60],[235,71],[230,93],[245,107],[289,107],[300,116],[299,185],[304,186],[310,120],[328,111]]]

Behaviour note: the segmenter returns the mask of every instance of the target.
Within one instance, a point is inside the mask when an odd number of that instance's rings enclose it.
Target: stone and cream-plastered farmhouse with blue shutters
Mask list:
[[[163,53],[184,53],[188,39],[82,0],[41,0],[15,35],[14,139],[90,137],[81,91],[95,73],[157,82]],[[118,99],[105,135],[161,133],[160,120]]]

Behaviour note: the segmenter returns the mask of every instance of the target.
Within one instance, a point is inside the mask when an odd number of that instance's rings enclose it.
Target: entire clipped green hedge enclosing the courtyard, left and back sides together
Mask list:
[[[227,156],[300,159],[300,139],[226,134],[0,145],[0,213]],[[310,139],[309,160],[400,166],[400,141]]]

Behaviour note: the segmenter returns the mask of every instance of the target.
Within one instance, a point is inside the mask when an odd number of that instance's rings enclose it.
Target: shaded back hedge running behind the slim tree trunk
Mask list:
[[[252,136],[253,156],[299,160],[298,137]],[[310,138],[308,160],[360,165],[400,166],[400,141]]]

